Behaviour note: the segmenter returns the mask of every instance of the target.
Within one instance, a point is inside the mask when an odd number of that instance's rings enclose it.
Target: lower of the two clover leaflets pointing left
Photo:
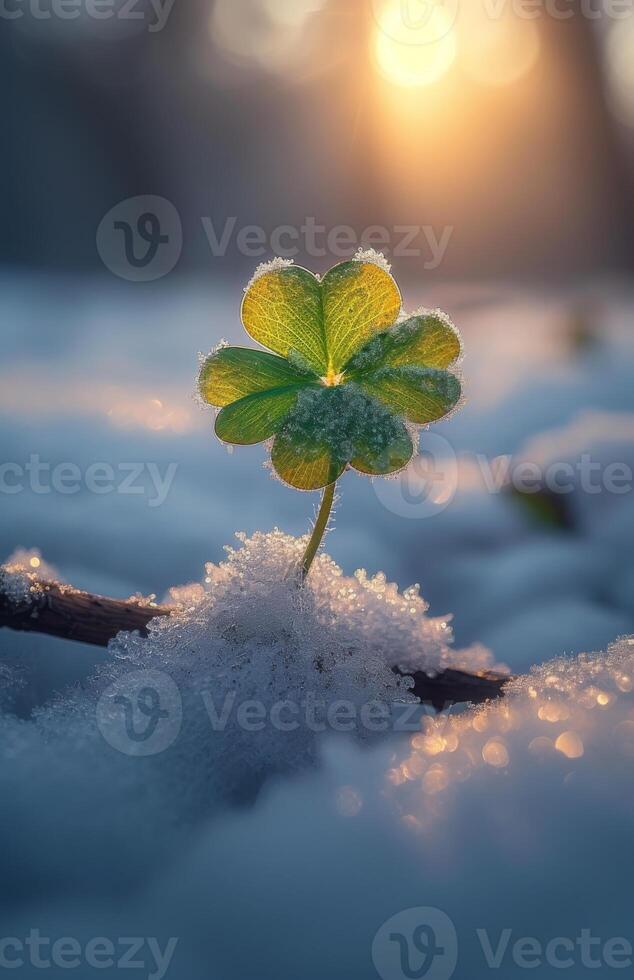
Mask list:
[[[247,395],[218,413],[216,435],[223,442],[252,446],[269,439],[280,428],[297,401],[301,385]]]

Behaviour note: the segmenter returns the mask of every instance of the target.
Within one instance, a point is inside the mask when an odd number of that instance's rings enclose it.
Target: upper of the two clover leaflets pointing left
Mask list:
[[[198,386],[206,402],[221,408],[246,395],[307,380],[283,357],[248,347],[221,347],[203,364]]]

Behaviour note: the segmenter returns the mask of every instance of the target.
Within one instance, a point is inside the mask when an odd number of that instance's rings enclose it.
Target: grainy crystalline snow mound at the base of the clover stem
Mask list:
[[[113,661],[93,684],[99,697],[114,685],[130,704],[139,671],[166,678],[158,695],[175,685],[182,725],[169,751],[188,766],[190,794],[197,778],[200,793],[215,782],[233,796],[271,772],[311,765],[325,732],[370,737],[377,729],[366,724],[368,711],[388,717],[395,702],[415,700],[411,679],[394,666],[434,672],[469,659],[452,652],[448,623],[428,618],[417,587],[401,593],[364,571],[346,577],[321,554],[300,589],[306,538],[279,530],[237,537],[226,561],[207,565],[204,590],[172,591],[177,611],[155,619],[147,639],[120,634],[110,644]],[[480,648],[473,657],[490,664]],[[116,705],[101,724],[116,740]],[[191,759],[203,757],[192,772]]]

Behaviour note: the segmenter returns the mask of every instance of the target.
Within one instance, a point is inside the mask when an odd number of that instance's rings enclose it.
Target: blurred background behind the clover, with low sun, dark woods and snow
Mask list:
[[[342,479],[327,550],[419,582],[459,645],[514,670],[634,631],[631,3],[7,0],[0,19],[4,557],[162,596],[234,530],[303,533],[317,496],[219,445],[196,355],[248,342],[259,262],[375,247],[407,309],[463,331],[467,400],[402,479]],[[6,631],[0,650],[40,702],[103,657]]]

